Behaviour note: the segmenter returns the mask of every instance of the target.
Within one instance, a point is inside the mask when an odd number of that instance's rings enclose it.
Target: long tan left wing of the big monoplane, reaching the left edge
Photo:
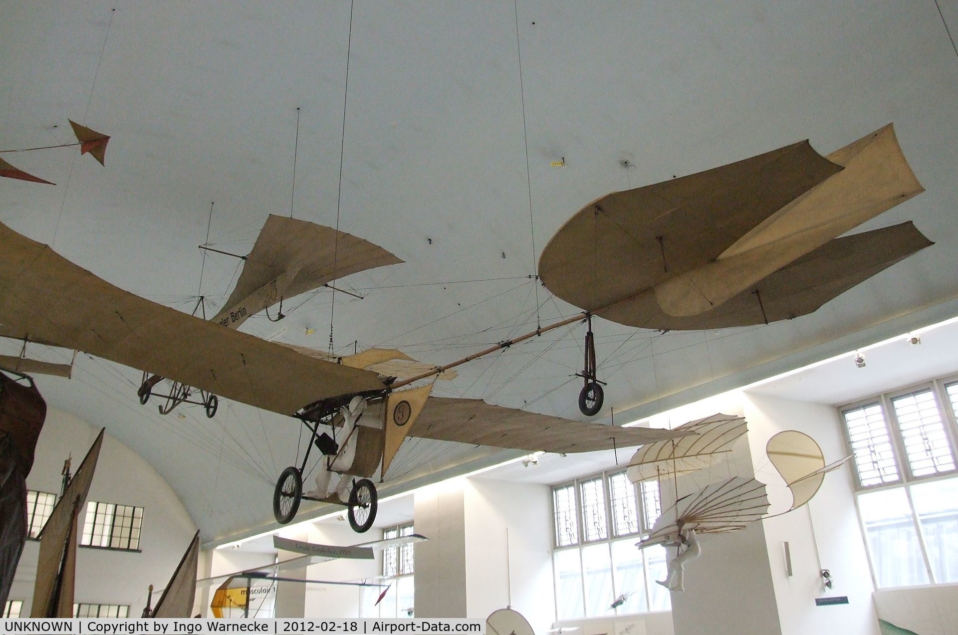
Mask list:
[[[106,283],[0,223],[0,329],[292,415],[384,388],[376,373],[224,329]]]

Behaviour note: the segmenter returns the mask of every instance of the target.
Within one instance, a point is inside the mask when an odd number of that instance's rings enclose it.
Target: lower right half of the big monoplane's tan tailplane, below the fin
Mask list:
[[[650,292],[601,315],[643,329],[670,330],[724,329],[788,320],[817,310],[855,284],[931,244],[911,221],[903,222],[834,238],[705,313],[668,315]]]

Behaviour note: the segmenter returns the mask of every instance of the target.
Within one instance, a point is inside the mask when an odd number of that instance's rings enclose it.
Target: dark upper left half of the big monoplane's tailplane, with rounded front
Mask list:
[[[559,298],[587,310],[620,302],[715,260],[838,170],[802,142],[607,194],[572,216],[549,241],[539,259],[539,277]],[[643,326],[619,318],[609,317]]]

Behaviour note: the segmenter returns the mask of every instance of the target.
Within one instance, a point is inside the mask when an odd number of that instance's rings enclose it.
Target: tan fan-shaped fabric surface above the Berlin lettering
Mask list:
[[[285,272],[295,272],[283,291],[285,298],[292,298],[358,271],[399,262],[382,247],[352,234],[307,220],[269,215],[223,306],[236,305]]]

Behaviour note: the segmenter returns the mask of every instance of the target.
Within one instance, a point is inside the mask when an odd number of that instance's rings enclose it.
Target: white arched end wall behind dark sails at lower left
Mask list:
[[[71,469],[76,473],[99,432],[69,413],[48,409],[27,488],[59,495],[63,461],[72,455]],[[142,507],[143,531],[140,553],[78,548],[75,601],[128,604],[130,617],[138,617],[147,603],[148,585],[162,589],[169,581],[193,539],[194,521],[159,473],[109,434],[103,437],[87,500]],[[85,507],[80,531],[84,517]],[[10,599],[23,601],[21,615],[30,614],[38,552],[39,542],[28,540],[13,579]],[[157,599],[154,593],[153,602]]]

